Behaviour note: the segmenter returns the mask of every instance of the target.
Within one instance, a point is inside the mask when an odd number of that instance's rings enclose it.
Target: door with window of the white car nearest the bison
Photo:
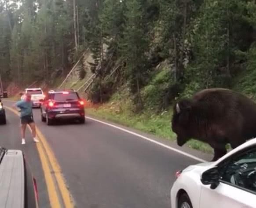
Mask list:
[[[256,146],[227,158],[218,169],[219,186],[202,185],[200,208],[256,208]]]

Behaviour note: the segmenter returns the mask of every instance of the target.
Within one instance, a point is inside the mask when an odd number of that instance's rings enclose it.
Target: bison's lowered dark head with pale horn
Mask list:
[[[191,99],[183,99],[173,106],[172,131],[177,135],[177,144],[183,146],[189,139]]]

